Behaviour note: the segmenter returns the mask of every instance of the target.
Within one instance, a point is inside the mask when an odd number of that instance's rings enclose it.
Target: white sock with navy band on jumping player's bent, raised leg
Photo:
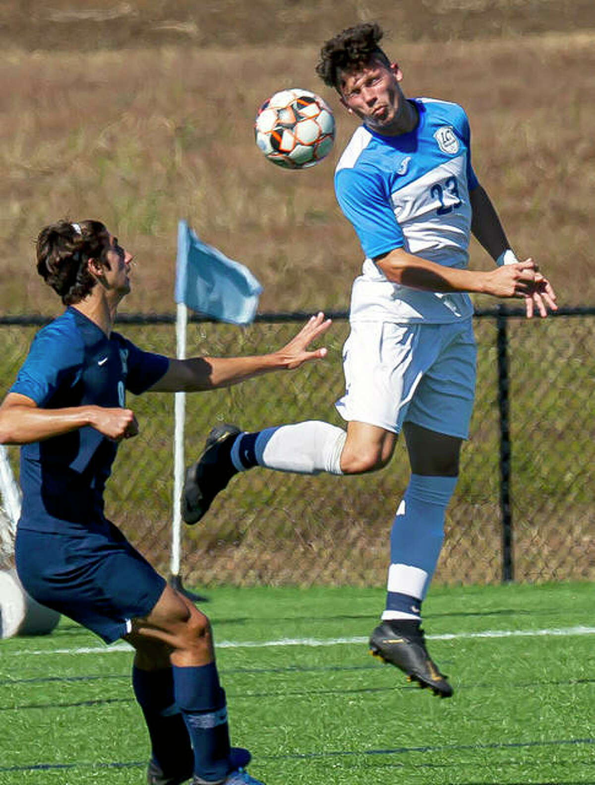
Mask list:
[[[258,466],[298,474],[342,474],[341,451],[347,434],[342,428],[319,420],[265,428],[256,435],[254,455]],[[232,463],[238,471],[248,468],[239,450],[242,436],[232,447]]]

